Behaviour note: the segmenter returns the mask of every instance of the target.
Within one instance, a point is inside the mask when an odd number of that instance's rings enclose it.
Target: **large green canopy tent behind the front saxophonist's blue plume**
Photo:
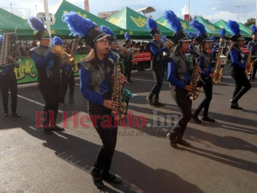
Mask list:
[[[53,7],[50,8],[50,13],[53,13],[55,15],[55,24],[51,25],[51,35],[53,36],[59,36],[62,39],[73,39],[73,36],[70,36],[70,30],[67,26],[67,23],[64,23],[62,21],[62,15],[63,13],[68,13],[70,11],[74,11],[78,13],[81,17],[90,19],[91,21],[95,22],[99,27],[101,25],[105,25],[106,27],[109,27],[113,33],[116,35],[118,39],[124,38],[124,29],[113,25],[112,23],[109,23],[108,21],[105,21],[104,19],[101,19],[65,0],[57,3]]]

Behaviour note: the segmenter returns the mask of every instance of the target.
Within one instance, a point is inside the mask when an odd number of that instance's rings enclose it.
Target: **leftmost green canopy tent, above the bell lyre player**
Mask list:
[[[14,32],[17,29],[19,40],[35,39],[33,30],[27,23],[27,20],[0,8],[0,29],[6,33]],[[3,32],[0,32],[3,35]]]

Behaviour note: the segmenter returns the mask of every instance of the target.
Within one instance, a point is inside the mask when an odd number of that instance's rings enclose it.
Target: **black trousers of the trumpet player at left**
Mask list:
[[[53,125],[56,124],[56,118],[59,110],[61,98],[61,84],[55,85],[40,85],[39,91],[45,100],[44,112],[47,112],[45,124],[49,125],[50,113],[53,111]]]

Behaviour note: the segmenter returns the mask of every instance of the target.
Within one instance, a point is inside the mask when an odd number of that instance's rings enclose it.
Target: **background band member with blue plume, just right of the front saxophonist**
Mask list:
[[[132,41],[130,40],[130,35],[126,32],[125,33],[125,43],[126,43],[126,47],[125,49],[131,50],[132,51]],[[127,76],[127,81],[130,83],[133,83],[133,81],[130,80],[130,75],[131,75],[131,71],[132,71],[132,67],[133,67],[133,63],[132,60],[134,59],[133,57],[133,53],[125,53],[124,54],[124,65],[125,65],[125,72],[124,72],[124,76]]]

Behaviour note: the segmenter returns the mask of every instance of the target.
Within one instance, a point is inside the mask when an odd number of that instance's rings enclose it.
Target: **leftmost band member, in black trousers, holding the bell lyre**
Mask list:
[[[3,42],[3,35],[0,35],[0,50]],[[16,75],[14,72],[14,67],[19,68],[20,65],[18,62],[15,62],[13,57],[9,55],[7,57],[8,61],[11,63],[11,65],[5,65],[5,66],[0,66],[0,69],[2,70],[0,72],[0,86],[1,86],[1,91],[2,91],[2,100],[3,100],[3,109],[4,117],[8,117],[8,91],[10,87],[11,91],[11,111],[12,111],[12,116],[13,117],[21,117],[20,114],[16,112],[17,108],[17,79]]]

